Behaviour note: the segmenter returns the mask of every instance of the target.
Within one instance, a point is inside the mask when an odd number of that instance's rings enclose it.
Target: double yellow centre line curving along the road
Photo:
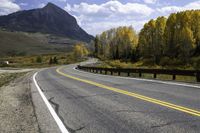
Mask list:
[[[158,104],[158,105],[161,105],[161,106],[165,106],[165,107],[168,107],[168,108],[171,108],[171,109],[175,109],[175,110],[178,110],[178,111],[181,111],[181,112],[185,112],[185,113],[200,117],[200,111],[190,109],[190,108],[187,108],[187,107],[183,107],[183,106],[180,106],[180,105],[175,105],[175,104],[172,104],[172,103],[169,103],[169,102],[157,100],[157,99],[150,98],[150,97],[140,95],[140,94],[137,94],[137,93],[133,93],[133,92],[125,91],[125,90],[122,90],[122,89],[110,87],[110,86],[103,85],[103,84],[100,84],[100,83],[97,83],[97,82],[94,82],[94,81],[77,78],[77,77],[74,77],[74,76],[71,76],[71,75],[68,75],[68,74],[61,72],[60,69],[62,69],[62,67],[58,68],[56,71],[59,74],[65,76],[65,77],[68,77],[68,78],[71,78],[71,79],[74,79],[74,80],[78,80],[78,81],[81,81],[81,82],[84,82],[84,83],[88,83],[90,85],[94,85],[94,86],[97,86],[97,87],[100,87],[100,88],[111,90],[111,91],[114,91],[114,92],[117,92],[117,93],[120,93],[120,94],[135,97],[135,98],[138,98],[138,99],[141,99],[141,100],[144,100],[144,101],[148,101],[150,103]]]

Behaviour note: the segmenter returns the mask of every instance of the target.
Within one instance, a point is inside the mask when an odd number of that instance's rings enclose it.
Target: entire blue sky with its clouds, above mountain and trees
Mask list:
[[[200,0],[0,0],[0,15],[42,8],[52,2],[76,17],[90,34],[132,25],[139,31],[144,23],[172,12],[200,9]]]

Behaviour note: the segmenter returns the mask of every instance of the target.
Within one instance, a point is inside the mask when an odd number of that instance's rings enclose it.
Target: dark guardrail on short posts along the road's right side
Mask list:
[[[127,76],[130,76],[131,73],[138,73],[139,77],[142,77],[142,74],[153,74],[154,78],[157,78],[158,74],[172,75],[172,80],[176,80],[176,76],[193,76],[196,77],[196,81],[200,82],[200,71],[199,70],[169,70],[169,69],[140,69],[140,68],[102,68],[102,67],[89,67],[89,66],[77,66],[78,69],[94,72],[101,74],[111,75],[117,73],[119,76],[121,73],[127,73]]]

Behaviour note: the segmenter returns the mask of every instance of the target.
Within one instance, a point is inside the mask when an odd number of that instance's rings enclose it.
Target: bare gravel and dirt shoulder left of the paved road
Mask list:
[[[0,132],[40,132],[31,98],[29,75],[0,88]]]

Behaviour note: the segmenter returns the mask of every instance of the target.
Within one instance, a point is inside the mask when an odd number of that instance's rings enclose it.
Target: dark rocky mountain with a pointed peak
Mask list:
[[[77,24],[73,16],[52,3],[43,8],[0,16],[0,27],[9,31],[40,32],[84,42],[93,39]]]

